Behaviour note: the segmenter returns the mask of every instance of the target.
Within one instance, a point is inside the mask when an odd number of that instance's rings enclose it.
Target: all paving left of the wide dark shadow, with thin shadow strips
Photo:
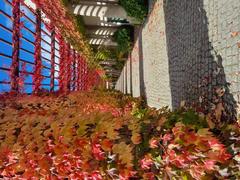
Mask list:
[[[152,4],[147,21],[135,34],[133,51],[125,64],[127,74],[131,74],[128,79],[132,86],[128,89],[134,97],[144,96],[149,106],[171,107],[163,1]],[[117,82],[118,90],[120,82],[122,76]],[[130,85],[129,81],[125,83]]]

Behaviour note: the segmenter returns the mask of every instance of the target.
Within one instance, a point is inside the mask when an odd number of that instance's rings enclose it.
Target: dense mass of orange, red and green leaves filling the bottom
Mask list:
[[[209,122],[117,92],[2,96],[0,177],[240,179],[239,125]]]

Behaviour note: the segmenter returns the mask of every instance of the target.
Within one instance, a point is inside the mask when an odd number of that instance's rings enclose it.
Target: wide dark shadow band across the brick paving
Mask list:
[[[164,12],[173,108],[185,101],[208,113],[222,102],[223,121],[234,121],[237,103],[226,82],[222,57],[209,42],[203,0],[165,0]]]

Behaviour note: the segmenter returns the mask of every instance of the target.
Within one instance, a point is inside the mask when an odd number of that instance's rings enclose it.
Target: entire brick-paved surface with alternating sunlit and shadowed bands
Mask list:
[[[135,43],[132,69],[133,92],[139,88],[133,94],[145,95],[151,106],[186,101],[209,108],[222,88],[232,113],[240,101],[240,1],[156,1]]]

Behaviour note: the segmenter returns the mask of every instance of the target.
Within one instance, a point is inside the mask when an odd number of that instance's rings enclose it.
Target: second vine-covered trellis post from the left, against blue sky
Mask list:
[[[42,82],[42,62],[41,62],[41,11],[36,10],[36,34],[35,34],[35,70],[33,75],[33,93],[38,93]]]

